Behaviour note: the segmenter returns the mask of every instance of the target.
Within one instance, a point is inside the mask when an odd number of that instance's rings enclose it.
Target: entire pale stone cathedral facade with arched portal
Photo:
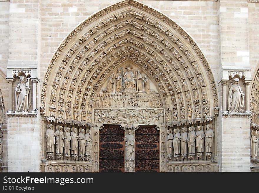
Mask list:
[[[259,171],[259,1],[0,12],[1,172]]]

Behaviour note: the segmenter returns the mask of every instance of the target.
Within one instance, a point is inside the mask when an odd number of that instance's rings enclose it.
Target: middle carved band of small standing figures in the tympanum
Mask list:
[[[159,94],[97,94],[96,107],[154,107],[161,108],[163,102]]]

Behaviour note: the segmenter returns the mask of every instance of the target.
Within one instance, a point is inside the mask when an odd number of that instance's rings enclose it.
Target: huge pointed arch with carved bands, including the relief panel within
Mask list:
[[[41,95],[45,125],[90,127],[97,135],[103,124],[156,125],[161,133],[209,121],[214,131],[217,106],[212,72],[195,42],[136,1],[105,8],[74,29],[54,54]],[[88,155],[95,171],[98,153]]]

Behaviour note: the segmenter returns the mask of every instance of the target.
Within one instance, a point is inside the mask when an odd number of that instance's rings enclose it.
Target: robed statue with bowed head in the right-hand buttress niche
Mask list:
[[[240,113],[244,108],[244,96],[239,83],[239,79],[235,78],[233,83],[230,83],[228,93],[228,111],[229,113]]]

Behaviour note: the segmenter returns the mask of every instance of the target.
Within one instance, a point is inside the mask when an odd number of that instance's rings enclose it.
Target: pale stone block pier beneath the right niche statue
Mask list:
[[[250,172],[250,114],[223,114],[221,121],[220,171]]]

